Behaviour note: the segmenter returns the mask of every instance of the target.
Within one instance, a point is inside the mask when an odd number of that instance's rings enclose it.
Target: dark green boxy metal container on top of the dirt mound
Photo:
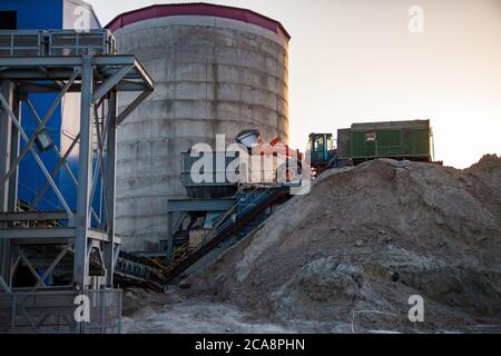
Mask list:
[[[430,120],[354,123],[337,130],[337,152],[354,164],[376,158],[431,161]]]

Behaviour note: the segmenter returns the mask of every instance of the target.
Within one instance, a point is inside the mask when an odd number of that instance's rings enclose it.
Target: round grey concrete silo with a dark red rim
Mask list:
[[[117,234],[125,249],[148,250],[166,239],[167,199],[186,195],[181,152],[255,128],[287,142],[289,36],[256,12],[204,3],[139,9],[108,28],[156,82],[118,134]]]

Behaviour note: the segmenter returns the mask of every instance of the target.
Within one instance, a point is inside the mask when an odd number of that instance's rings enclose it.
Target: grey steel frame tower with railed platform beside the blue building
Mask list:
[[[55,316],[37,314],[40,310],[30,315],[35,306],[29,300],[33,296],[41,300],[53,293],[67,293],[71,298],[79,294],[116,293],[112,275],[120,246],[114,227],[117,126],[153,90],[154,81],[141,63],[135,56],[117,56],[115,39],[106,30],[0,31],[0,291],[3,289],[0,294],[0,329],[2,300],[11,303],[11,308],[7,309],[11,312],[12,329],[19,324],[27,325],[32,332],[47,332],[46,325],[65,330],[57,325]],[[56,100],[41,115],[29,95],[49,92],[57,93]],[[61,152],[50,145],[46,125],[69,92],[80,93],[80,132],[67,151]],[[118,92],[139,93],[117,112]],[[24,108],[28,107],[38,121],[31,137],[21,126],[21,102],[27,103]],[[21,140],[23,145],[20,145]],[[77,177],[68,165],[68,157],[72,152],[76,155],[76,148],[79,158]],[[59,158],[52,171],[41,159],[41,152],[49,149]],[[46,184],[33,201],[20,206],[18,169],[28,155],[35,158]],[[75,186],[76,209],[68,205],[55,179],[60,170],[67,171]],[[102,187],[105,219],[96,217],[91,205],[98,186]],[[48,189],[57,196],[63,208],[61,211],[36,209]],[[91,222],[92,217],[97,222]],[[45,255],[47,250],[52,254]],[[51,261],[36,266],[33,259],[40,260],[40,256],[46,260],[50,256]],[[71,284],[49,285],[48,277],[68,258],[72,259]],[[13,285],[21,265],[36,280],[29,288]],[[98,271],[96,266],[99,266]],[[66,330],[81,332],[86,325],[75,326],[72,309],[70,312],[66,319],[71,326]],[[102,320],[100,323],[104,326]]]

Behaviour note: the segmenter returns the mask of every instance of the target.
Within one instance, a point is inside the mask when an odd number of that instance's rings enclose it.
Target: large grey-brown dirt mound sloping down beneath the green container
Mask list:
[[[501,325],[501,159],[330,171],[190,283],[310,332]],[[407,319],[413,295],[424,323]]]

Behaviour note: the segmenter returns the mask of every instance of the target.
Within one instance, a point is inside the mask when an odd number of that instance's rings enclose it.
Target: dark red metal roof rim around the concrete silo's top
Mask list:
[[[124,12],[112,19],[106,28],[111,31],[116,31],[135,22],[178,14],[213,16],[238,20],[268,29],[277,34],[284,36],[287,40],[291,39],[291,36],[281,22],[267,18],[261,13],[247,9],[204,2],[154,4],[129,12]]]

